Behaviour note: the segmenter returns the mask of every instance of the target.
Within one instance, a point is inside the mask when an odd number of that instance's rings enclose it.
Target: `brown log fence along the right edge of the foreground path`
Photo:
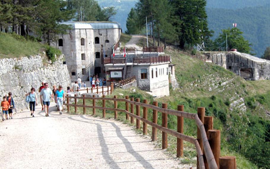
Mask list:
[[[220,130],[213,130],[213,118],[205,115],[205,108],[199,107],[198,114],[184,112],[184,106],[179,105],[177,110],[167,109],[167,104],[162,104],[162,108],[158,107],[158,102],[154,101],[153,105],[147,104],[147,100],[144,100],[143,103],[140,102],[139,98],[105,98],[103,95],[102,98],[93,97],[74,97],[67,96],[67,111],[70,112],[70,106],[73,106],[75,113],[77,113],[77,107],[83,107],[83,114],[85,114],[86,108],[93,109],[93,115],[96,114],[96,109],[102,109],[103,118],[106,117],[106,110],[114,111],[115,119],[117,119],[117,112],[125,112],[126,119],[129,119],[130,122],[134,123],[134,118],[136,119],[136,129],[140,129],[140,121],[143,122],[143,134],[147,134],[147,124],[152,126],[152,141],[157,140],[157,129],[162,131],[162,148],[165,149],[168,147],[167,134],[171,134],[177,137],[177,157],[183,155],[183,140],[193,143],[197,152],[197,168],[210,168],[210,169],[236,169],[236,160],[235,157],[220,157]],[[74,104],[70,104],[69,100],[73,98]],[[83,100],[83,105],[77,104],[77,99]],[[85,99],[92,100],[93,105],[85,105]],[[96,106],[96,100],[102,100],[102,107]],[[114,108],[106,107],[106,101],[113,101]],[[125,102],[126,109],[117,108],[118,102]],[[130,105],[130,108],[129,108]],[[134,114],[134,106],[136,106],[136,114]],[[143,117],[140,116],[140,107],[143,107]],[[147,109],[153,110],[153,121],[147,120]],[[157,124],[158,112],[162,113],[162,126]],[[168,129],[167,127],[167,118],[169,115],[177,116],[177,131]],[[192,119],[196,122],[197,125],[197,139],[184,135],[184,118]],[[210,144],[209,144],[210,143]],[[205,158],[204,158],[205,157]],[[204,160],[205,159],[205,160]]]

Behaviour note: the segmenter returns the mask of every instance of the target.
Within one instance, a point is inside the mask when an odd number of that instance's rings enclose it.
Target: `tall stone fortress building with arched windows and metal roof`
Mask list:
[[[71,26],[67,34],[58,35],[52,46],[65,55],[71,80],[89,73],[104,75],[104,57],[112,55],[113,46],[120,40],[121,28],[117,22],[64,22]]]

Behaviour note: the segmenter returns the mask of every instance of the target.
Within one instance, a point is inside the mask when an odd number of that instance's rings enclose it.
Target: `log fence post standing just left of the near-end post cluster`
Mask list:
[[[178,105],[177,106],[178,111],[184,111],[184,105]],[[177,116],[177,132],[184,133],[184,118]],[[183,140],[180,138],[177,138],[177,153],[176,157],[183,157]]]

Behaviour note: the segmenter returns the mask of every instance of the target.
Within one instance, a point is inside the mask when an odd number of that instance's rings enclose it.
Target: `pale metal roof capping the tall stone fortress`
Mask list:
[[[117,22],[63,22],[62,24],[71,25],[73,29],[121,29]]]

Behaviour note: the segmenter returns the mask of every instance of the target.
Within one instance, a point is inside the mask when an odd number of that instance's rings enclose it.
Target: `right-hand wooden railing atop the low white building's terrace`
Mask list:
[[[159,56],[159,57],[134,57],[133,63],[140,64],[140,63],[163,63],[163,62],[170,62],[170,56]]]

